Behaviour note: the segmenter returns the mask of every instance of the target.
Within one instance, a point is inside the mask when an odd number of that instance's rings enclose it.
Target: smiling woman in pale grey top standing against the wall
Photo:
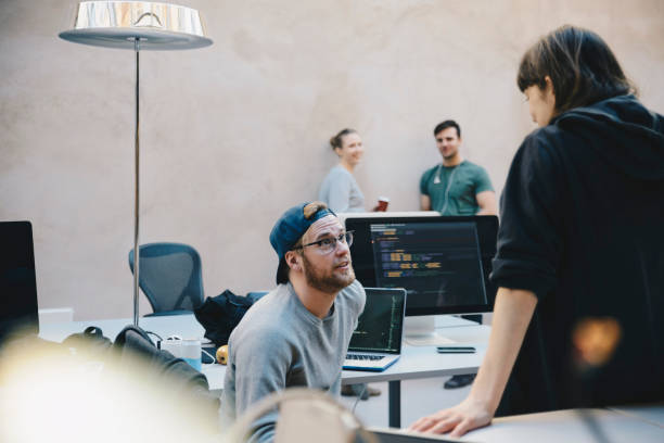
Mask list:
[[[363,212],[365,195],[353,177],[365,153],[362,139],[355,129],[346,128],[330,139],[330,145],[340,161],[322,181],[318,200],[336,213]]]

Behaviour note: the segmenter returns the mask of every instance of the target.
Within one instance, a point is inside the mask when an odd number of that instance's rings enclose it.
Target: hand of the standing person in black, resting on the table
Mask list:
[[[450,436],[457,438],[468,431],[489,425],[491,418],[494,414],[489,413],[486,405],[468,397],[455,407],[420,418],[408,430],[431,433],[450,432]]]

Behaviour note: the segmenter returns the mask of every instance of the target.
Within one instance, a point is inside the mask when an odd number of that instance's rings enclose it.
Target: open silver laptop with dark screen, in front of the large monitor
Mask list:
[[[350,338],[344,369],[382,371],[399,359],[406,290],[365,288],[367,303]]]

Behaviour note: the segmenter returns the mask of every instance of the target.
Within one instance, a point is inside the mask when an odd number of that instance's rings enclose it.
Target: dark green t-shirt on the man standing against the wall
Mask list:
[[[475,195],[493,190],[486,170],[468,161],[434,166],[420,180],[420,193],[429,195],[431,208],[442,215],[475,215],[480,211]]]

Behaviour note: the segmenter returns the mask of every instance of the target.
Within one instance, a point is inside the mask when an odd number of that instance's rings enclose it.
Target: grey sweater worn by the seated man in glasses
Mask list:
[[[354,281],[340,291],[323,319],[307,311],[291,283],[279,284],[256,302],[229,339],[221,397],[226,425],[266,395],[286,388],[339,395],[342,364],[365,298],[365,289]],[[272,414],[255,422],[252,441],[271,441],[276,419]]]

